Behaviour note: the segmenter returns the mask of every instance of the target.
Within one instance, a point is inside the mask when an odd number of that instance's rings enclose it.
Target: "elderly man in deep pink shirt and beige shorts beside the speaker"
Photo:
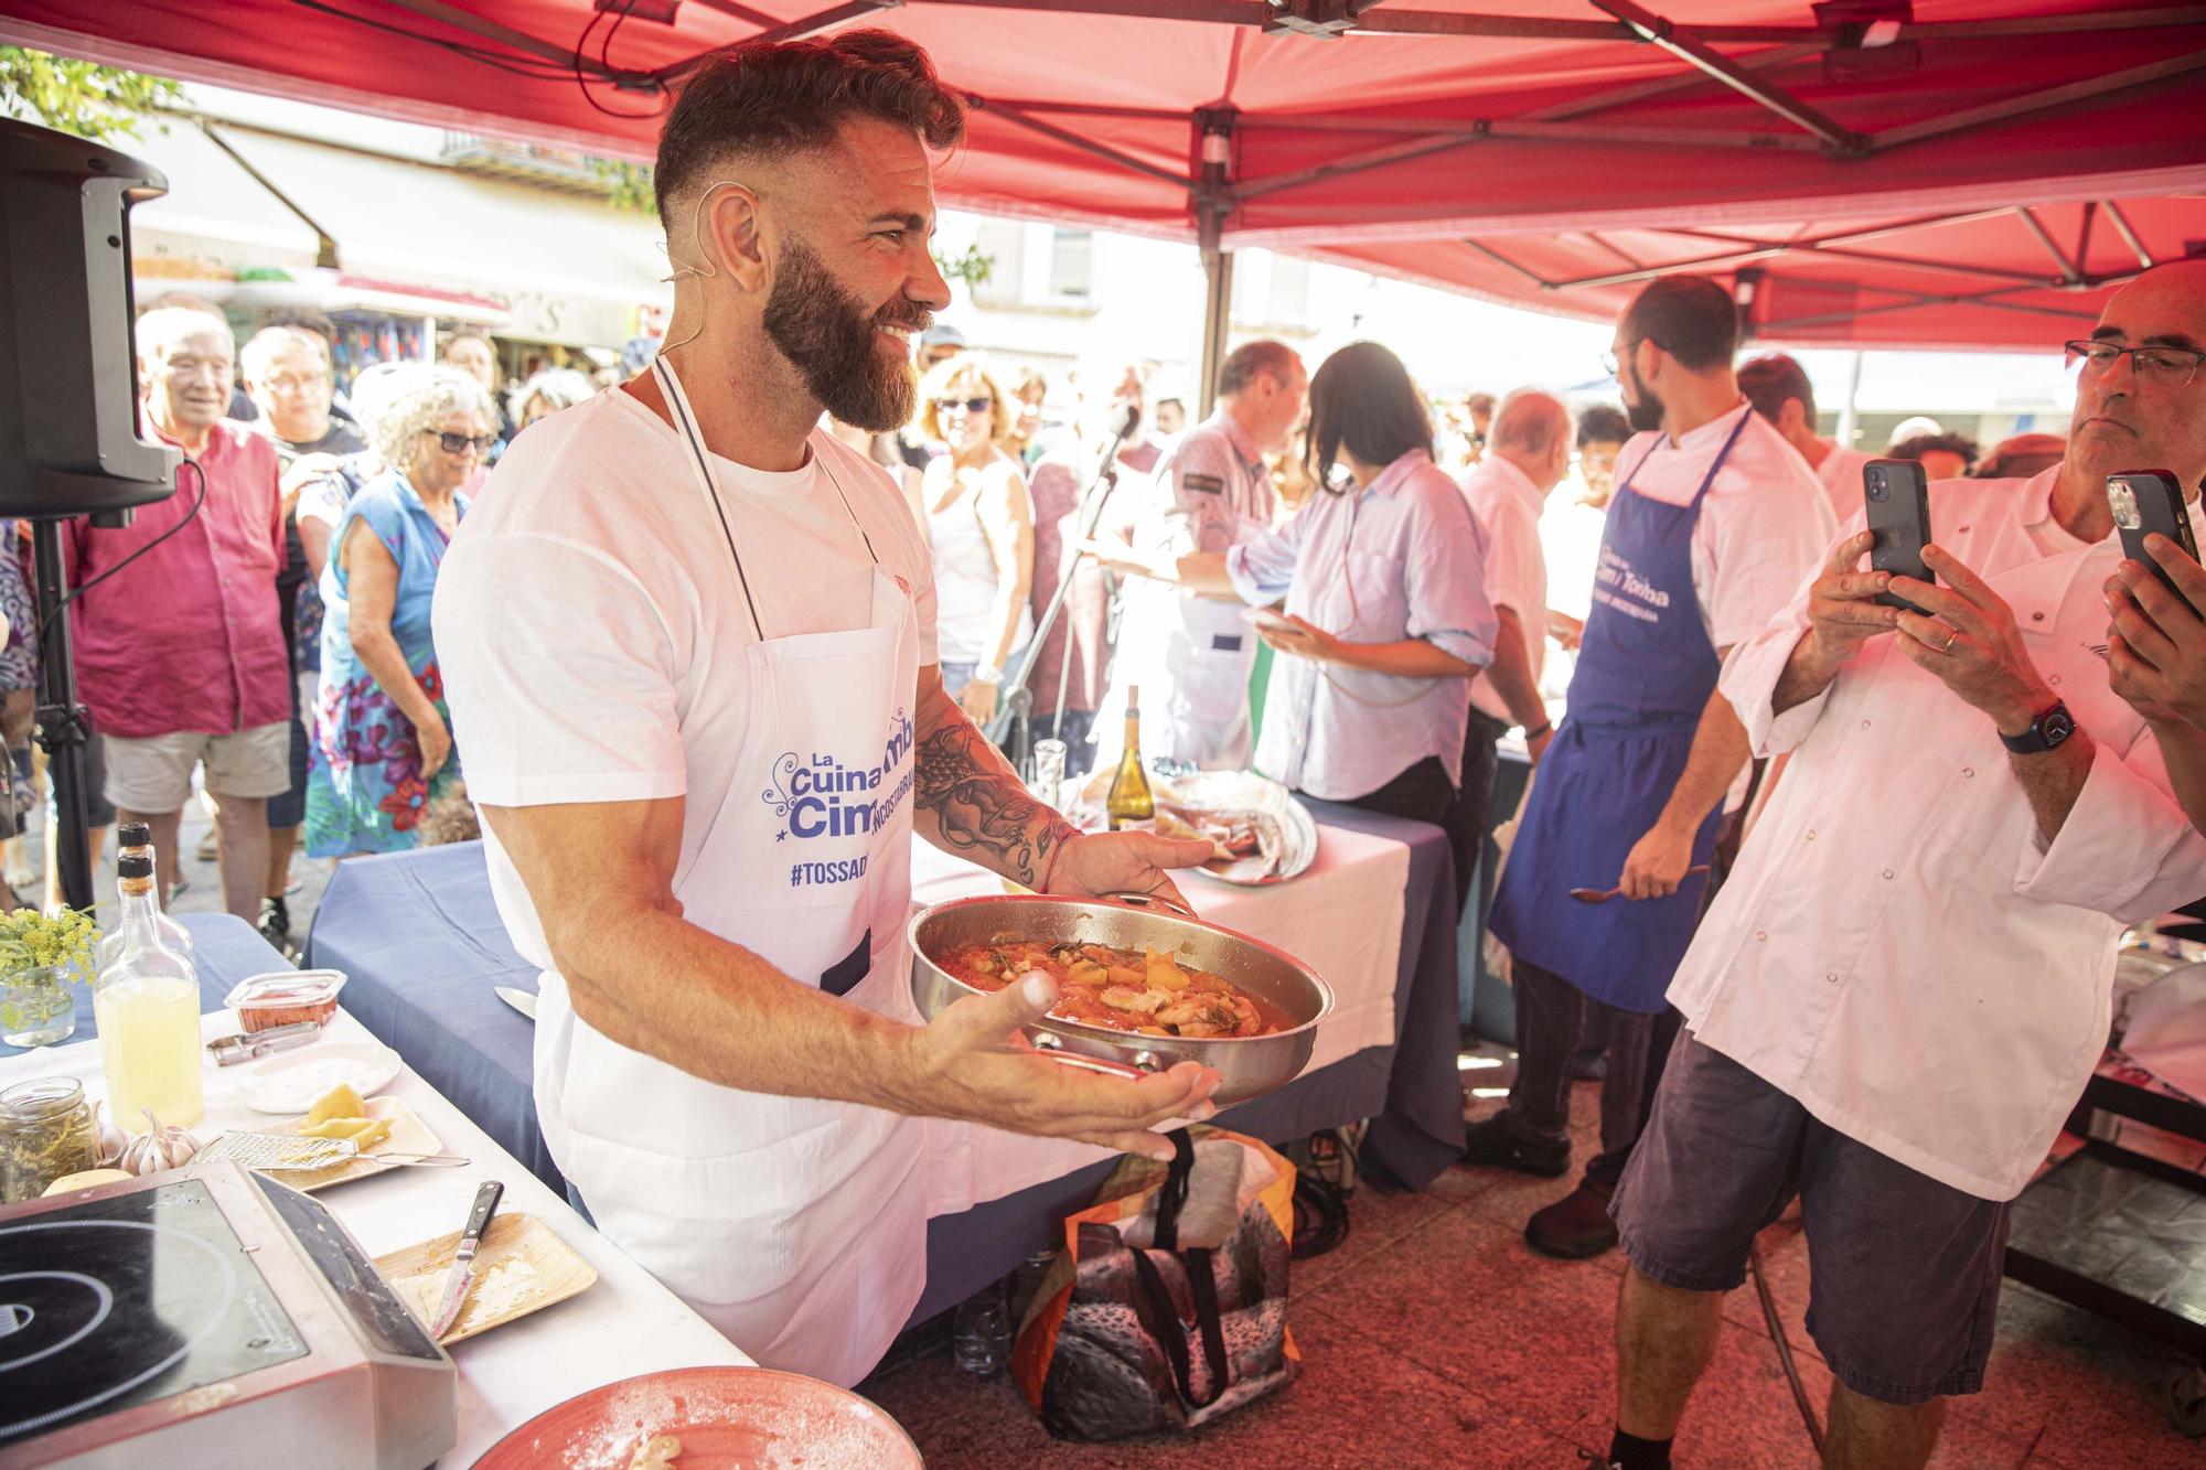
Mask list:
[[[276,450],[223,419],[236,373],[223,318],[148,311],[137,351],[146,422],[188,464],[176,494],[139,508],[130,525],[71,523],[77,680],[106,742],[104,795],[121,821],[152,825],[163,892],[176,881],[192,768],[205,764],[223,905],[251,923],[267,883],[267,799],[291,786]]]

